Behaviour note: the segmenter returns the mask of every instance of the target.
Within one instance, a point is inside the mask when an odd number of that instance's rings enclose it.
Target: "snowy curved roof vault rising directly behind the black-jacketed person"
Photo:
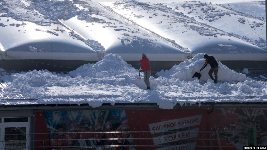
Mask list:
[[[236,38],[237,36],[227,33],[220,28],[217,29],[213,26],[206,25],[197,21],[197,19],[195,20],[186,15],[179,14],[178,10],[173,11],[159,4],[136,1],[105,2],[103,4],[111,7],[116,13],[123,15],[125,18],[132,19],[133,22],[138,23],[140,26],[155,31],[163,37],[175,40],[177,44],[188,48],[193,54],[203,52],[210,54],[266,53],[266,50],[253,46],[248,42],[244,42],[243,40],[245,37]],[[171,3],[170,5],[173,7],[178,6],[177,3]],[[191,9],[193,9],[193,7],[198,7],[198,5],[190,5]],[[188,6],[185,6],[185,8],[188,9]],[[202,13],[202,11],[199,12]],[[233,21],[228,22],[231,24]],[[235,22],[238,21],[236,20]],[[225,27],[231,28],[229,26]],[[262,28],[262,30],[260,30],[262,31],[261,34],[265,33],[265,30],[266,29]],[[263,35],[263,38],[266,39],[266,35]],[[219,45],[231,45],[235,47],[235,50],[222,49]]]

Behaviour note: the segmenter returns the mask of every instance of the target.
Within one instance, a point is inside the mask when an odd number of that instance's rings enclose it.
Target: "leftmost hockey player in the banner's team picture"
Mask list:
[[[58,134],[54,137],[53,147],[55,148],[66,148],[68,145],[69,136],[65,134],[63,128],[58,129]]]

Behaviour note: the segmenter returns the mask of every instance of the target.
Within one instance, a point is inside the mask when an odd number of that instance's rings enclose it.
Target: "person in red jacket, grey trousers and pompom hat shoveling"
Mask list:
[[[139,70],[139,72],[144,72],[145,76],[144,76],[144,81],[145,84],[147,85],[147,90],[151,90],[150,89],[150,82],[149,82],[149,78],[151,76],[151,69],[150,69],[150,62],[149,59],[147,58],[146,54],[142,53],[142,59],[139,60],[139,63],[141,64],[142,68]]]

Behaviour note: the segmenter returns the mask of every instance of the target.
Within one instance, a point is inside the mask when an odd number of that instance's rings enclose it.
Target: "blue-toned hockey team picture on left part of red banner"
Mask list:
[[[43,111],[43,114],[52,149],[117,145],[117,150],[128,150],[121,145],[133,144],[133,140],[120,140],[132,136],[126,133],[130,126],[124,110]]]

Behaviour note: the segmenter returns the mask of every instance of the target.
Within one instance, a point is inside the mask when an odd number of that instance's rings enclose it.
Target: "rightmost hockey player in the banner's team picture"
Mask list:
[[[128,121],[123,121],[121,123],[121,128],[118,129],[117,131],[119,133],[116,134],[116,137],[118,138],[117,142],[119,143],[119,145],[134,145],[132,138],[132,134],[129,134],[130,127],[128,124]],[[121,140],[123,139],[123,140]],[[124,140],[127,139],[127,140]],[[128,146],[120,146],[119,149],[116,148],[117,150],[135,150],[134,147],[128,147]]]

